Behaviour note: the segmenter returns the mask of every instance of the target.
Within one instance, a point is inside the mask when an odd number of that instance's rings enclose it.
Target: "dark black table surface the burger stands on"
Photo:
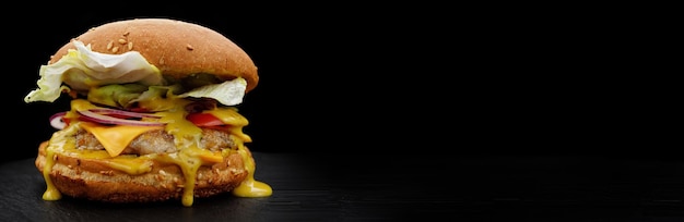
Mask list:
[[[0,221],[681,221],[684,160],[255,152],[267,198],[44,201],[33,159],[0,164]]]

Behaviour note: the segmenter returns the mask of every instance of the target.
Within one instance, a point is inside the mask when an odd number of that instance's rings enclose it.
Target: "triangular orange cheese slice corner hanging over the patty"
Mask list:
[[[89,122],[82,123],[81,126],[93,134],[111,157],[119,156],[135,137],[140,136],[140,134],[152,130],[164,128],[164,126],[105,126]]]

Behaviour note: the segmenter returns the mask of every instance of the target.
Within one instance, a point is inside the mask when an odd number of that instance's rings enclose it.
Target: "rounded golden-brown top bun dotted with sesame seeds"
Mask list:
[[[170,18],[131,18],[93,27],[74,38],[96,52],[121,54],[140,52],[165,76],[181,78],[197,73],[223,79],[243,77],[246,91],[258,82],[257,66],[235,42],[208,27]],[[50,59],[59,61],[73,44],[62,46]]]

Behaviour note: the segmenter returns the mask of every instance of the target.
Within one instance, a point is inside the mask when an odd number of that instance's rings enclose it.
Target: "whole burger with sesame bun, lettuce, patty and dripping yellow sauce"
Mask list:
[[[154,202],[224,193],[267,197],[238,112],[259,83],[250,57],[224,35],[161,17],[108,22],[40,65],[24,101],[69,109],[38,147],[45,200]]]

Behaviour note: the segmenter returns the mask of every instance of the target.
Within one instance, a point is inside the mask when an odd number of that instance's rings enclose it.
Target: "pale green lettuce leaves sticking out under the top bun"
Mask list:
[[[90,45],[81,41],[73,44],[76,49],[69,50],[54,64],[40,66],[38,88],[26,95],[25,102],[52,102],[62,91],[76,90],[89,92],[89,100],[98,103],[128,107],[132,102],[163,98],[165,94],[175,97],[173,95],[179,90],[177,86],[164,87],[166,83],[160,70],[137,51],[105,54],[92,51]],[[213,98],[222,104],[235,106],[243,102],[246,88],[247,82],[238,77],[201,86],[177,97]]]

